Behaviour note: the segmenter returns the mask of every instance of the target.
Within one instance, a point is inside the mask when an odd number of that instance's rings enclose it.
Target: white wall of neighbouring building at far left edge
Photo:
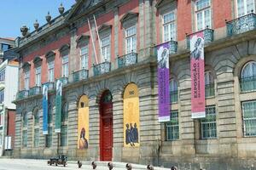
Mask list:
[[[6,65],[3,105],[8,109],[16,109],[12,101],[18,92],[18,71],[19,65]]]

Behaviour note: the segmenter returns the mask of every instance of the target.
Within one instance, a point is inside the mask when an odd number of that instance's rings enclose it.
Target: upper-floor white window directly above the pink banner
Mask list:
[[[195,2],[196,30],[201,31],[212,27],[211,0],[197,0]]]

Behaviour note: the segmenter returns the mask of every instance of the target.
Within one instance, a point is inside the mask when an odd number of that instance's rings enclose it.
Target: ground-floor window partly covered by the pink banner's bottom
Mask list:
[[[201,139],[217,138],[215,105],[207,106],[206,117],[201,119]]]

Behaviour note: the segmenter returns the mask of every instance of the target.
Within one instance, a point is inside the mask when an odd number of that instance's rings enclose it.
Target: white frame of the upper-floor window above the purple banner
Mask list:
[[[170,20],[168,22],[165,23],[165,16],[168,15],[168,14],[173,14],[174,15],[174,19],[173,20]],[[171,40],[173,41],[176,41],[177,39],[177,24],[176,24],[176,13],[174,11],[171,11],[171,12],[168,12],[166,14],[163,14],[162,15],[162,29],[163,29],[163,42],[169,42]],[[175,29],[175,35],[172,36],[172,25],[174,25],[174,29]],[[165,26],[168,26],[168,37],[166,37],[166,34],[165,34]]]

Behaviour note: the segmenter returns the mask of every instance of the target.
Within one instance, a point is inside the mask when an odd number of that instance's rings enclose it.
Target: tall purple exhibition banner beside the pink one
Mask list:
[[[170,121],[169,48],[169,42],[157,47],[159,122]]]

